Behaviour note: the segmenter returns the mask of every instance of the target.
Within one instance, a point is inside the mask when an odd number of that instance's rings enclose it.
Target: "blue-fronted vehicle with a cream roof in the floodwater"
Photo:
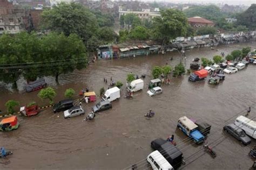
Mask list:
[[[198,130],[198,125],[188,119],[186,116],[180,117],[177,127],[188,137],[192,138],[197,144],[204,142],[203,134]]]

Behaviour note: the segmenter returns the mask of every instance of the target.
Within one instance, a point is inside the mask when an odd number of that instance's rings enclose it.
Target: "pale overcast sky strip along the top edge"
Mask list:
[[[148,0],[148,1],[154,1],[154,0]],[[256,3],[256,0],[156,0],[157,2],[159,1],[164,1],[164,2],[172,2],[172,3],[200,3],[200,4],[205,4],[205,3],[223,3],[223,4],[228,4],[228,5],[248,5],[250,6],[253,3]]]

